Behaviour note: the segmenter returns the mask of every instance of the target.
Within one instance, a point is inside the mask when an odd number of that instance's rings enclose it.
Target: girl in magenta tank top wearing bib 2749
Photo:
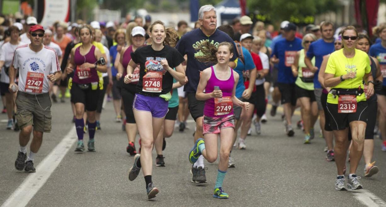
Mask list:
[[[215,45],[203,42],[199,49],[205,54],[197,58],[199,61],[216,63],[216,65],[203,70],[198,83],[196,98],[205,101],[203,120],[205,141],[202,138],[197,139],[189,152],[189,161],[193,164],[197,162],[200,155],[203,155],[208,162],[215,162],[218,154],[217,139],[220,136],[220,162],[213,197],[227,199],[229,195],[222,189],[222,184],[227,173],[235,133],[233,105],[239,105],[244,110],[248,110],[249,102],[242,102],[235,95],[239,74],[228,66],[233,56],[233,45],[222,42],[216,48]]]

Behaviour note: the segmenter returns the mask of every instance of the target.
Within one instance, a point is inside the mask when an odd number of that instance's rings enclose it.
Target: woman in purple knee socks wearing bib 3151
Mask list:
[[[100,50],[91,44],[93,39],[93,28],[90,25],[83,25],[79,29],[81,45],[71,50],[71,60],[66,68],[67,73],[74,72],[71,87],[71,102],[75,104],[76,117],[75,127],[78,135],[78,144],[75,152],[83,152],[83,131],[85,122],[83,114],[87,110],[88,125],[88,151],[95,152],[95,129],[97,127],[95,114],[98,98],[100,95],[99,77],[97,71],[107,72],[105,60]],[[84,54],[84,55],[82,55]]]

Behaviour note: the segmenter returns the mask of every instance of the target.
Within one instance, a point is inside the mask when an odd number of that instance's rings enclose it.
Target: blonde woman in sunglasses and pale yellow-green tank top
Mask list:
[[[296,78],[296,95],[298,100],[300,100],[301,106],[301,119],[303,120],[304,127],[304,144],[309,144],[311,137],[314,135],[313,127],[316,120],[318,119],[318,104],[316,102],[314,85],[313,85],[313,76],[314,73],[307,67],[304,63],[305,55],[310,48],[310,44],[316,41],[317,38],[312,33],[308,33],[303,37],[301,45],[303,49],[298,51],[295,56],[295,62],[291,67],[292,73]],[[315,57],[312,58],[312,65],[315,65]],[[311,132],[312,130],[312,132]]]

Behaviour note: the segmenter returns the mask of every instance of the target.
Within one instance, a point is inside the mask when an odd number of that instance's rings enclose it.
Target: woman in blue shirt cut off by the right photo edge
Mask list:
[[[386,25],[379,26],[378,31],[381,42],[370,47],[370,56],[378,59],[383,77],[382,88],[376,90],[376,93],[378,107],[381,111],[379,114],[379,129],[383,140],[381,150],[386,152]]]

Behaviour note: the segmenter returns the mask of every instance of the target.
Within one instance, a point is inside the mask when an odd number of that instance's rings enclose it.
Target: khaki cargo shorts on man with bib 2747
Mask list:
[[[51,132],[52,116],[49,93],[32,95],[19,91],[16,97],[16,107],[15,118],[20,129],[32,125],[34,131]]]

